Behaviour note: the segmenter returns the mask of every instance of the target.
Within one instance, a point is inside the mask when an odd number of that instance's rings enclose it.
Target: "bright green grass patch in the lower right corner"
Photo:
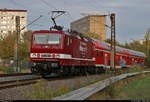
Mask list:
[[[150,100],[150,75],[142,78],[140,80],[135,80],[125,86],[121,90],[123,96],[126,96],[125,99],[132,100]]]

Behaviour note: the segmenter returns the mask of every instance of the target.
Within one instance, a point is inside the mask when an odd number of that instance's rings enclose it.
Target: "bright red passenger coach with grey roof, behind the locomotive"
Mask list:
[[[110,44],[93,39],[95,45],[95,66],[97,68],[110,68]],[[134,51],[116,46],[116,68],[130,67],[134,64],[147,66],[147,57],[143,52]]]

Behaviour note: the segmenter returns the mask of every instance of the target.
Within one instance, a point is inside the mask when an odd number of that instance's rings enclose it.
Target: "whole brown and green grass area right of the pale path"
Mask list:
[[[89,100],[145,100],[150,99],[150,74],[141,74],[118,81],[89,97]]]

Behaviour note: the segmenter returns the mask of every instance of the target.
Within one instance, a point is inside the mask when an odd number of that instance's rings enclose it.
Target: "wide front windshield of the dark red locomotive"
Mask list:
[[[60,44],[60,34],[35,34],[34,44]]]

